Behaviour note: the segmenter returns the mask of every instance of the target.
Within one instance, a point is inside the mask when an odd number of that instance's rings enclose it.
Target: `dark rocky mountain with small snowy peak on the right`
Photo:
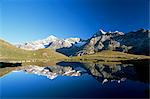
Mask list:
[[[124,34],[123,32],[96,32],[76,55],[94,54],[102,50],[121,51],[132,54],[149,55],[149,30],[140,29]]]

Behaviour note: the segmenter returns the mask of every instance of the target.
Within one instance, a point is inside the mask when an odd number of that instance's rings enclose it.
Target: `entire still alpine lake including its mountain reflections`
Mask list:
[[[149,97],[149,60],[21,65],[1,62],[1,99]]]

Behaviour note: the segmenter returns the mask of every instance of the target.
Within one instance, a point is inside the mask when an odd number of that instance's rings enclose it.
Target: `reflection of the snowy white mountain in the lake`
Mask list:
[[[62,66],[47,66],[47,67],[39,67],[39,66],[26,66],[21,67],[17,71],[24,71],[30,74],[37,74],[46,76],[49,79],[54,79],[57,76],[80,76],[80,71],[73,70],[72,67],[62,67]]]

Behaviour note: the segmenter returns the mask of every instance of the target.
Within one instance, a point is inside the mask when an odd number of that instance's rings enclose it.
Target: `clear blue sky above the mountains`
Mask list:
[[[149,0],[0,0],[0,38],[21,43],[149,29],[148,10]]]

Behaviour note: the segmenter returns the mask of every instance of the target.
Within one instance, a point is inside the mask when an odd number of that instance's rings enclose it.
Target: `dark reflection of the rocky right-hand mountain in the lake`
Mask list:
[[[85,69],[98,81],[114,81],[130,79],[149,83],[149,60],[126,61],[124,64],[100,64],[100,63],[79,63],[79,62],[60,62],[61,66],[72,66],[74,69]],[[118,81],[120,82],[120,81]]]

